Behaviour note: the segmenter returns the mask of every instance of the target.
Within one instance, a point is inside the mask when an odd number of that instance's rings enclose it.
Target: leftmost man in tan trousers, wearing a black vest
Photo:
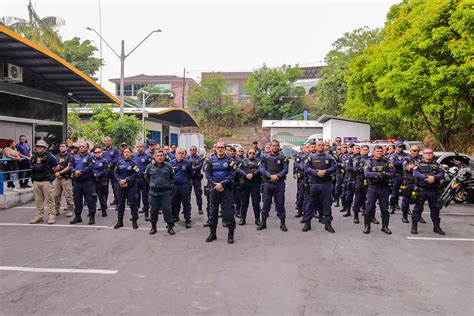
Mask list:
[[[48,224],[56,222],[56,211],[53,200],[54,173],[59,170],[58,161],[47,151],[48,144],[44,140],[36,142],[36,153],[31,157],[31,181],[36,211],[30,224],[43,222],[44,204],[48,206]]]

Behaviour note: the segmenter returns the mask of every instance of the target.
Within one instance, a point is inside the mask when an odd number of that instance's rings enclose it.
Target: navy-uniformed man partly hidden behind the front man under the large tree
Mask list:
[[[354,192],[354,223],[359,224],[359,212],[361,208],[365,208],[365,199],[367,195],[367,179],[364,175],[364,166],[369,159],[369,146],[362,145],[360,147],[360,155],[354,158],[353,172],[355,179]]]

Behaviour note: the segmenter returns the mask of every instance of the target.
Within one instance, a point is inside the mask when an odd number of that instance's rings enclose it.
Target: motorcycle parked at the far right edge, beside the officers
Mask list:
[[[473,170],[460,162],[457,166],[451,167],[446,172],[445,187],[440,196],[442,205],[447,207],[451,201],[455,203],[472,203],[474,198],[474,179],[472,177]]]

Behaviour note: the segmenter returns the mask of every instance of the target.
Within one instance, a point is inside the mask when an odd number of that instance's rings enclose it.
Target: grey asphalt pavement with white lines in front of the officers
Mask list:
[[[0,315],[472,315],[474,208],[442,210],[446,236],[401,214],[392,235],[342,217],[335,234],[313,221],[301,232],[294,218],[295,181],[287,181],[288,232],[274,210],[257,231],[253,212],[235,244],[204,242],[209,230],[193,198],[193,227],[169,236],[160,215],[156,235],[140,214],[140,229],[114,230],[113,210],[96,225],[30,225],[34,204],[0,211]],[[87,213],[84,210],[83,218]],[[377,215],[380,217],[380,214]],[[46,219],[46,217],[45,217]],[[414,239],[413,239],[414,237]]]

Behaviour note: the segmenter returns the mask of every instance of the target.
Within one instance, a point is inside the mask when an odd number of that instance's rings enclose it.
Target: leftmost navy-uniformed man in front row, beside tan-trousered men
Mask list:
[[[97,208],[97,193],[95,192],[93,168],[95,158],[89,153],[89,144],[79,142],[79,153],[74,155],[71,172],[74,175],[74,219],[70,224],[82,222],[82,206],[84,198],[89,209],[89,225],[95,224],[95,212]]]

